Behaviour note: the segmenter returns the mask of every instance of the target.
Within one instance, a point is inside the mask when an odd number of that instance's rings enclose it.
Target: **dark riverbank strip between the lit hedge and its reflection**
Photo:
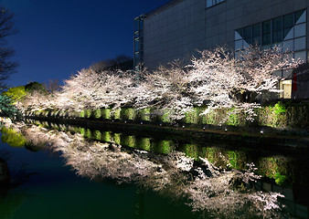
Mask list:
[[[40,116],[26,116],[28,120],[41,120],[56,123],[63,123],[68,125],[76,125],[88,129],[110,129],[122,130],[124,132],[131,132],[133,134],[152,133],[160,136],[162,134],[170,134],[177,139],[195,141],[197,143],[224,143],[230,146],[242,147],[258,147],[265,150],[296,150],[309,151],[309,137],[306,135],[293,135],[291,132],[284,135],[284,131],[276,134],[271,128],[263,130],[247,129],[237,131],[236,129],[229,130],[228,128],[212,127],[205,125],[202,127],[190,127],[186,124],[151,124],[146,122],[132,122],[122,120],[91,120],[91,119],[70,119],[70,118],[56,118],[56,117],[40,117]],[[221,129],[221,130],[219,130]]]

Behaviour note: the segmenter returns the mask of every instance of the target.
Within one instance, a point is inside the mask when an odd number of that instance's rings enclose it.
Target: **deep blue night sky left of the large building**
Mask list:
[[[69,78],[102,59],[133,57],[133,18],[169,0],[0,0],[15,14],[17,73],[7,84]]]

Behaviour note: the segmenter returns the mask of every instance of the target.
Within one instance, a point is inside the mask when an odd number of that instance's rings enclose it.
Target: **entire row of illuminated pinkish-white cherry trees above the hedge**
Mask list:
[[[206,106],[204,114],[216,108],[244,111],[253,120],[259,108],[261,92],[280,92],[273,73],[297,67],[299,60],[282,53],[282,48],[248,47],[237,57],[225,47],[200,52],[189,65],[173,62],[154,71],[144,70],[138,78],[122,70],[81,69],[68,80],[61,91],[48,99],[28,98],[31,109],[62,110],[117,109],[133,106],[152,109],[155,115],[180,120],[197,106]],[[47,101],[46,104],[42,101]],[[37,105],[37,107],[36,107]]]

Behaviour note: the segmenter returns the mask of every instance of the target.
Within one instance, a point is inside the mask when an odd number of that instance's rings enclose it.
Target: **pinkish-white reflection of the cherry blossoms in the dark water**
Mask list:
[[[46,130],[32,126],[22,130],[27,139],[44,141],[54,151],[61,151],[68,165],[79,175],[91,179],[110,179],[116,183],[137,183],[171,198],[186,197],[193,211],[210,218],[284,218],[278,203],[280,193],[240,191],[232,186],[235,179],[250,183],[257,180],[251,172],[227,172],[208,160],[195,166],[182,152],[168,155],[126,150],[115,143],[85,141],[80,134]],[[45,136],[45,137],[43,137]],[[32,142],[36,142],[32,141]]]

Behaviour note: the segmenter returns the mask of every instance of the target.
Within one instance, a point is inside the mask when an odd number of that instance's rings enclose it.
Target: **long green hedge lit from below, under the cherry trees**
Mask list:
[[[248,120],[248,114],[235,109],[213,110],[207,115],[201,114],[205,107],[197,107],[186,113],[182,120],[170,120],[168,113],[155,115],[151,109],[135,110],[122,108],[118,110],[98,109],[82,110],[39,110],[26,112],[26,116],[121,121],[135,124],[173,125],[176,127],[197,128],[206,130],[230,130],[240,132],[268,132],[279,135],[308,135],[309,104],[278,102],[260,109],[255,109],[253,121]]]

